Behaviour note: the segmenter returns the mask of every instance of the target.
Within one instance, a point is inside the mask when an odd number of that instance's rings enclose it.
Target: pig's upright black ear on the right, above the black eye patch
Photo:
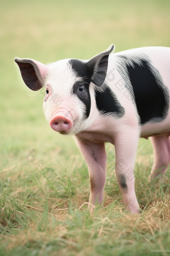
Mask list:
[[[91,71],[91,82],[101,86],[105,80],[108,66],[108,56],[113,51],[114,45],[110,45],[107,50],[95,55],[87,63],[88,70]]]

